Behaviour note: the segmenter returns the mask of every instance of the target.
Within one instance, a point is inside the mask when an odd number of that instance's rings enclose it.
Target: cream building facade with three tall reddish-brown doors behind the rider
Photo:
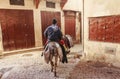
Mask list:
[[[45,43],[43,32],[53,18],[58,20],[58,26],[63,34],[70,34],[79,42],[79,12],[64,10],[66,3],[69,1],[0,1],[0,54],[42,48]],[[74,30],[68,29],[69,24]]]

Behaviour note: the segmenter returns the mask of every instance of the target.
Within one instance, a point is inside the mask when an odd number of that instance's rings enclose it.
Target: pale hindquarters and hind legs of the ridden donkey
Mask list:
[[[63,53],[60,45],[57,42],[49,42],[45,50],[43,51],[44,54],[44,59],[46,63],[51,64],[51,72],[54,71],[54,76],[56,77],[56,67],[57,67],[57,62],[58,58],[60,61],[62,61],[63,58]],[[53,57],[54,57],[54,62],[53,62]]]

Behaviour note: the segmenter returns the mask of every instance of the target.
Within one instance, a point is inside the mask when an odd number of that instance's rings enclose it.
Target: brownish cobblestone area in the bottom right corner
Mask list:
[[[120,69],[103,62],[80,61],[67,79],[120,79]]]

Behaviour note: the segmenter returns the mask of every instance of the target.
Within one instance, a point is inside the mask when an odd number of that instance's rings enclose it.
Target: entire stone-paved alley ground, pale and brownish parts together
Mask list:
[[[119,68],[101,62],[84,62],[76,57],[80,51],[76,45],[68,55],[69,63],[58,64],[58,77],[50,71],[50,64],[44,62],[41,51],[5,56],[0,59],[0,79],[120,79]]]

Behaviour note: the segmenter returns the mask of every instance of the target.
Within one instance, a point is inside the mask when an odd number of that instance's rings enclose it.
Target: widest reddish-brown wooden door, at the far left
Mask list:
[[[0,9],[0,20],[5,51],[35,46],[32,10]]]

